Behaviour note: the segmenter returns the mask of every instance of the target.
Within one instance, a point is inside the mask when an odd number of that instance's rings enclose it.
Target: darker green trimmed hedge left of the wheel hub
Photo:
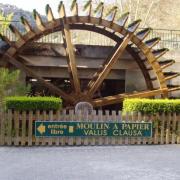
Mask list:
[[[62,108],[62,100],[56,97],[25,97],[6,98],[8,109],[14,110],[57,110]]]

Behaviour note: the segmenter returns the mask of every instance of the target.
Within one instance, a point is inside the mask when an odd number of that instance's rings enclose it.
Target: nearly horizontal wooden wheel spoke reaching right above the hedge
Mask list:
[[[124,100],[124,98],[145,98],[145,97],[153,97],[156,95],[163,94],[165,91],[167,91],[167,88],[164,89],[157,89],[152,91],[142,91],[142,92],[136,92],[132,94],[117,94],[114,96],[107,96],[103,98],[94,99],[92,101],[92,104],[94,107],[97,106],[106,106],[110,104],[118,104]]]

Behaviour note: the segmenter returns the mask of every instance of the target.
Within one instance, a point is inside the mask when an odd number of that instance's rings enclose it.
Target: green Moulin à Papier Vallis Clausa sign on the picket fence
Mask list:
[[[151,122],[60,122],[36,121],[36,137],[86,137],[86,136],[123,136],[151,137]]]

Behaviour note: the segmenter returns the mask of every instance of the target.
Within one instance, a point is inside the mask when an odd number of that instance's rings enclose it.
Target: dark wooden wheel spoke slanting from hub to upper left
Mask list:
[[[60,90],[53,84],[46,82],[42,77],[38,76],[35,72],[33,72],[30,68],[26,67],[23,63],[18,61],[16,58],[11,57],[7,53],[4,55],[6,60],[17,67],[18,69],[24,71],[27,75],[37,79],[43,86],[47,87],[52,93],[57,94],[58,96],[61,96],[63,99],[65,99],[69,103],[74,103],[73,97],[66,94],[64,91]],[[24,57],[19,56],[20,58],[24,59]]]

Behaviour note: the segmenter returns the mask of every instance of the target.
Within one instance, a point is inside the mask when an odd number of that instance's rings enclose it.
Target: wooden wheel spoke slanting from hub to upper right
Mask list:
[[[112,55],[112,57],[110,59],[108,58],[108,60],[105,61],[106,63],[103,65],[102,70],[100,69],[100,71],[97,74],[95,74],[93,79],[89,82],[88,92],[87,92],[87,95],[89,97],[93,96],[93,94],[100,87],[100,85],[102,84],[104,79],[110,73],[112,67],[115,65],[115,63],[118,61],[118,59],[122,56],[124,50],[126,49],[129,41],[131,40],[131,38],[133,36],[133,32],[137,29],[139,24],[140,24],[140,22],[137,21],[136,23],[133,23],[129,26],[129,28],[131,28],[131,30],[132,30],[132,33],[128,33],[126,35],[126,37],[123,39],[123,41],[120,43],[120,45],[118,45],[118,48],[115,51],[115,53]]]

